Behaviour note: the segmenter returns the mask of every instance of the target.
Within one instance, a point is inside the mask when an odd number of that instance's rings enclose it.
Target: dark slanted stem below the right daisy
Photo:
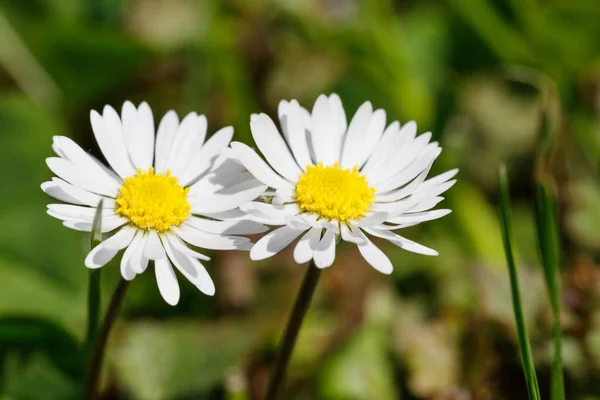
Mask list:
[[[294,345],[296,344],[296,338],[300,332],[302,320],[310,306],[310,301],[315,293],[320,275],[321,270],[315,266],[313,261],[311,261],[306,270],[306,274],[304,275],[304,280],[302,281],[302,286],[298,292],[296,302],[294,303],[292,315],[290,316],[287,327],[285,328],[285,333],[283,334],[281,348],[279,349],[277,361],[275,362],[275,367],[271,374],[271,381],[267,388],[265,400],[276,400],[279,391],[283,386],[287,366],[290,362]]]

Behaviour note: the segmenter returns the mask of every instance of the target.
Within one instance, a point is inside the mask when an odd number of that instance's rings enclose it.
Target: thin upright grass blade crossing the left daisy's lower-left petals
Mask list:
[[[94,214],[94,222],[92,223],[90,241],[92,249],[102,242],[102,200],[100,200],[98,203],[96,214]],[[102,276],[99,269],[91,269],[89,274],[88,324],[85,339],[85,350],[91,354],[94,349],[94,343],[96,342],[96,335],[98,334],[98,321],[100,315],[100,281]]]

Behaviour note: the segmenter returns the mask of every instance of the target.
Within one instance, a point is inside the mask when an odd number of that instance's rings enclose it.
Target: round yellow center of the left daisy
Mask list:
[[[154,174],[154,168],[125,178],[117,196],[116,213],[140,229],[168,231],[190,216],[192,207],[187,200],[189,188],[183,188],[177,178]]]

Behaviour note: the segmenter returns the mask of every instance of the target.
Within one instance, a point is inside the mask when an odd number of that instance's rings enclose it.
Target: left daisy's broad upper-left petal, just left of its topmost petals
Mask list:
[[[90,121],[96,142],[110,166],[121,178],[135,175],[135,168],[127,154],[121,120],[116,111],[112,107],[106,106],[104,107],[104,117],[96,111],[92,111]]]

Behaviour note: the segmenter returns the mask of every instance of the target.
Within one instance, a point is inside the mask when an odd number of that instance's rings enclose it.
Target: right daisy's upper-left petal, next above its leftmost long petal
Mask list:
[[[252,137],[268,163],[284,178],[295,182],[302,171],[277,131],[273,120],[266,114],[253,115],[250,121]]]

